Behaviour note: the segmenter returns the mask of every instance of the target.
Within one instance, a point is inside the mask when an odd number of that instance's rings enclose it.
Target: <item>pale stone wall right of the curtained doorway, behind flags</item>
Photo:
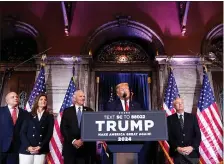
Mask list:
[[[185,111],[189,113],[196,112],[203,80],[203,63],[200,58],[179,55],[174,56],[169,62],[165,56],[157,57],[156,60],[158,61],[160,68],[159,97],[161,98],[161,102],[163,102],[163,94],[167,86],[169,63],[169,66],[173,69],[173,74],[177,83],[180,97],[184,99]],[[211,70],[208,69],[207,73],[213,89]]]

